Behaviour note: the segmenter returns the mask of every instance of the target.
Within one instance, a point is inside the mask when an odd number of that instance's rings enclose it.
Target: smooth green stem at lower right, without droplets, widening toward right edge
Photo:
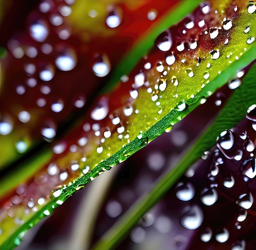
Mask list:
[[[214,144],[216,137],[225,129],[238,124],[249,106],[255,103],[256,64],[246,75],[242,86],[234,91],[211,126],[189,147],[182,160],[174,169],[163,175],[150,192],[144,194],[126,214],[108,230],[92,247],[92,250],[114,249],[128,235],[139,219],[174,186],[185,171],[198,159],[207,147]],[[232,119],[230,119],[232,118]]]

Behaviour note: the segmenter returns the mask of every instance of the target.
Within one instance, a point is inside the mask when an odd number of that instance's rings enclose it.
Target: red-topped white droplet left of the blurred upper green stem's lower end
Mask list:
[[[111,64],[106,54],[96,55],[92,61],[92,72],[99,76],[104,77],[108,75],[111,70]]]

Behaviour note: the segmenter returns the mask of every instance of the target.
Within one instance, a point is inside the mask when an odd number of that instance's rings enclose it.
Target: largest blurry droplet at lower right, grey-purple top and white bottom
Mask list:
[[[180,219],[180,223],[184,228],[197,229],[202,225],[204,220],[204,214],[202,209],[197,204],[190,207],[189,211],[186,212]]]

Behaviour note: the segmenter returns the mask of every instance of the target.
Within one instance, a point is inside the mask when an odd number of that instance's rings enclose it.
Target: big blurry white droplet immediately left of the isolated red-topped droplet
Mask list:
[[[55,60],[56,67],[61,71],[70,71],[76,66],[77,56],[73,49],[63,49]]]

